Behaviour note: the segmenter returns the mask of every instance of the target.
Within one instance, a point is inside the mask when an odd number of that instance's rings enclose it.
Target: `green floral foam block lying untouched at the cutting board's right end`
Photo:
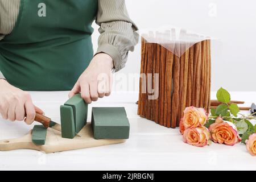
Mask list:
[[[95,139],[128,139],[130,123],[124,107],[93,107],[92,128]]]

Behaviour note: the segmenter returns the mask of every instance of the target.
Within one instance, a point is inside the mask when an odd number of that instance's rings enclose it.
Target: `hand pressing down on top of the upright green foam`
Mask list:
[[[81,93],[84,101],[90,104],[92,101],[97,101],[99,97],[109,96],[112,89],[113,67],[112,57],[106,53],[98,53],[77,80],[69,93],[69,98],[76,93]]]

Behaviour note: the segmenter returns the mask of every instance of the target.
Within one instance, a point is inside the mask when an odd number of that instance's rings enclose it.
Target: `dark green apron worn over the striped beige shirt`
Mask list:
[[[20,0],[0,41],[0,71],[23,90],[71,90],[93,57],[97,0]]]

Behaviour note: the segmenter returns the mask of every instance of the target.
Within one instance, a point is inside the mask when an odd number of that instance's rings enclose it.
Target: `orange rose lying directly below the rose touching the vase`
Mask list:
[[[210,144],[210,133],[209,130],[204,127],[188,128],[184,131],[183,142],[191,144],[192,146],[204,147]]]

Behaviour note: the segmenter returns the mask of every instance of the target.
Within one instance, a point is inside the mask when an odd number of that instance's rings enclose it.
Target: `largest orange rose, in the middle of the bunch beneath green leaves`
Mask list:
[[[216,119],[215,123],[210,125],[209,130],[210,138],[215,143],[233,146],[241,141],[236,126],[232,122],[223,121],[220,117]]]

